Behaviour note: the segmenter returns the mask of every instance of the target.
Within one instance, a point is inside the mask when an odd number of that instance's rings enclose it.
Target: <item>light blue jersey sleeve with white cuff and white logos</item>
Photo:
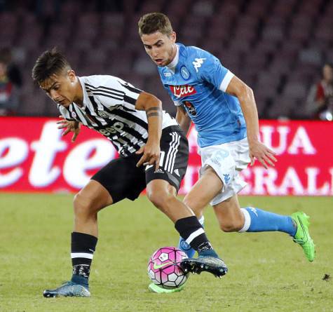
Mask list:
[[[198,71],[198,77],[202,81],[208,81],[215,88],[226,92],[233,73],[226,69],[219,59],[205,50],[198,53],[193,61],[194,68]]]

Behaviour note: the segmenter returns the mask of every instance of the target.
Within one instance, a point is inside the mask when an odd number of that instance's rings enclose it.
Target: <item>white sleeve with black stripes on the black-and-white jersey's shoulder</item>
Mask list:
[[[95,82],[96,84],[96,82]],[[135,103],[142,90],[114,76],[104,76],[94,91],[105,107],[122,105],[125,110],[135,111]]]

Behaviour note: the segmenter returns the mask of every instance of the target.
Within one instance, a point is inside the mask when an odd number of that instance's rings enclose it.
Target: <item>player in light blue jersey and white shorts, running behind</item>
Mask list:
[[[184,198],[203,224],[210,203],[222,231],[288,233],[313,261],[315,246],[308,233],[308,216],[295,212],[277,215],[258,208],[240,208],[238,192],[246,183],[239,172],[257,159],[274,166],[275,153],[259,141],[259,121],[252,89],[209,53],[176,43],[170,20],[148,13],[138,23],[139,34],[151,60],[158,66],[163,86],[177,106],[176,119],[188,132],[191,121],[198,131],[201,177]],[[180,238],[179,247],[194,251]]]

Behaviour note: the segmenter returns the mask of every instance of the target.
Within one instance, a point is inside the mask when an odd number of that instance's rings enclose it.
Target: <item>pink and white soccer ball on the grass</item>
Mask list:
[[[162,247],[156,250],[148,263],[148,276],[159,287],[178,288],[186,282],[189,273],[184,273],[179,266],[187,256],[176,247]]]

